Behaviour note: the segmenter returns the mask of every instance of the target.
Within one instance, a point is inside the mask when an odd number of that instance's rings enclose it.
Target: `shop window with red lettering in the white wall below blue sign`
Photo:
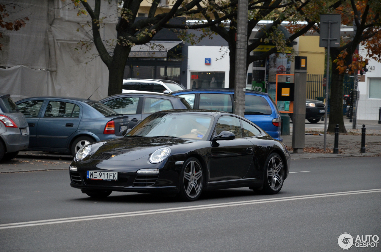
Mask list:
[[[225,72],[191,72],[191,88],[224,88]]]

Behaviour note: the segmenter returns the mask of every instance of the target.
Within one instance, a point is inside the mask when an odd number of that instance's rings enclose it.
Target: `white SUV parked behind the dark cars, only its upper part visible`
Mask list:
[[[169,94],[185,88],[171,80],[124,79],[123,93],[162,93]]]

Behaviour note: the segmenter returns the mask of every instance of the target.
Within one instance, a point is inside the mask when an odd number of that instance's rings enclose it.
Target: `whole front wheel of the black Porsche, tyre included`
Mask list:
[[[180,198],[185,201],[198,199],[203,188],[203,175],[197,158],[189,158],[184,162],[180,178]]]

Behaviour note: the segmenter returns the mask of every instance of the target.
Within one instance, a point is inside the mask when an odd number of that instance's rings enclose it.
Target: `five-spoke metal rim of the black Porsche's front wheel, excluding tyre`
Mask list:
[[[199,163],[190,161],[184,171],[184,189],[190,198],[200,194],[202,188],[202,171]]]

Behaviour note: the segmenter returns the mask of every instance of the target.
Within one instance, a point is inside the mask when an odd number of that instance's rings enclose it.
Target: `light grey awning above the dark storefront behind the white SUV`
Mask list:
[[[166,58],[167,52],[179,43],[181,41],[155,41],[144,45],[135,45],[131,48],[128,57]]]

